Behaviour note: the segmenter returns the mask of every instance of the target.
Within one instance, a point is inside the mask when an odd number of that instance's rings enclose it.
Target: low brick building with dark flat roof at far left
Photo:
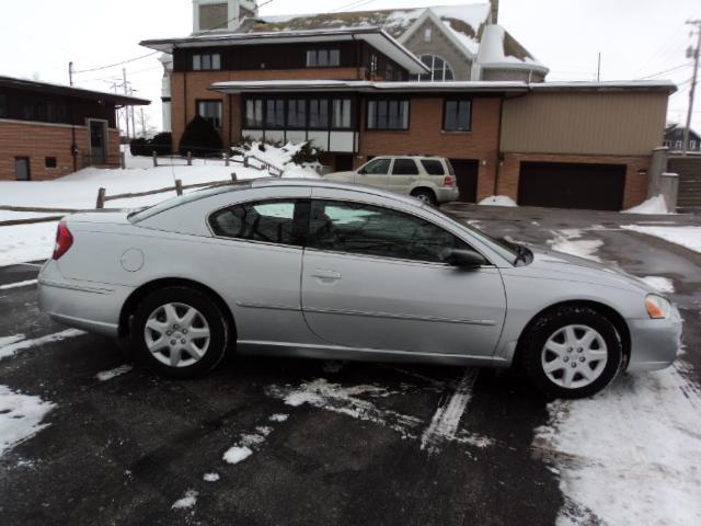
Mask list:
[[[43,181],[119,165],[116,108],[149,101],[0,77],[0,180]]]

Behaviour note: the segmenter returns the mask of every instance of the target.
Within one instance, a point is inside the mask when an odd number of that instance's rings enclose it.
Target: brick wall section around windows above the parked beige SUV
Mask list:
[[[498,162],[499,99],[475,98],[472,101],[472,130],[443,132],[443,98],[412,99],[409,130],[369,132],[365,129],[365,108],[355,165],[368,156],[422,153],[450,159],[480,161],[478,199],[494,193]]]

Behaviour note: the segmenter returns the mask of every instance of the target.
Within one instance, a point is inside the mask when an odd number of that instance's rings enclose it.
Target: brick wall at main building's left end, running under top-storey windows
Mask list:
[[[185,126],[196,114],[198,100],[219,100],[222,113],[221,141],[225,145],[237,142],[241,138],[241,100],[238,95],[229,98],[222,93],[210,91],[215,82],[245,80],[355,80],[364,78],[365,69],[360,68],[314,68],[254,71],[189,71],[174,72],[171,76],[171,127],[173,146],[177,149]],[[230,123],[233,123],[231,125]],[[229,128],[231,127],[231,133]]]

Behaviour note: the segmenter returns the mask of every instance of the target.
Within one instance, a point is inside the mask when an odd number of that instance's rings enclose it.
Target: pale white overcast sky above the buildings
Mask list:
[[[475,2],[273,0],[261,14],[463,3]],[[192,32],[191,0],[2,0],[0,14],[0,75],[49,82],[68,83],[69,60],[78,71],[107,66],[147,54],[141,39]],[[690,18],[701,19],[701,1],[502,0],[499,8],[499,23],[551,69],[549,80],[595,79],[600,52],[601,80],[675,81],[679,91],[670,98],[668,117],[675,122],[686,118],[691,84],[686,49],[692,38],[685,25]],[[160,62],[148,57],[125,67],[135,95],[153,101],[148,113],[160,127]],[[111,91],[120,76],[122,66],[77,75],[76,83]],[[701,132],[701,92],[693,126]]]

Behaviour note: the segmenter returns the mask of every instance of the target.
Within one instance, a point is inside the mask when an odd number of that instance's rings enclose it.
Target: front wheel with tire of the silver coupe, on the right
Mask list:
[[[576,399],[590,397],[616,378],[623,350],[605,316],[588,307],[562,307],[536,320],[525,334],[520,358],[545,395]]]

